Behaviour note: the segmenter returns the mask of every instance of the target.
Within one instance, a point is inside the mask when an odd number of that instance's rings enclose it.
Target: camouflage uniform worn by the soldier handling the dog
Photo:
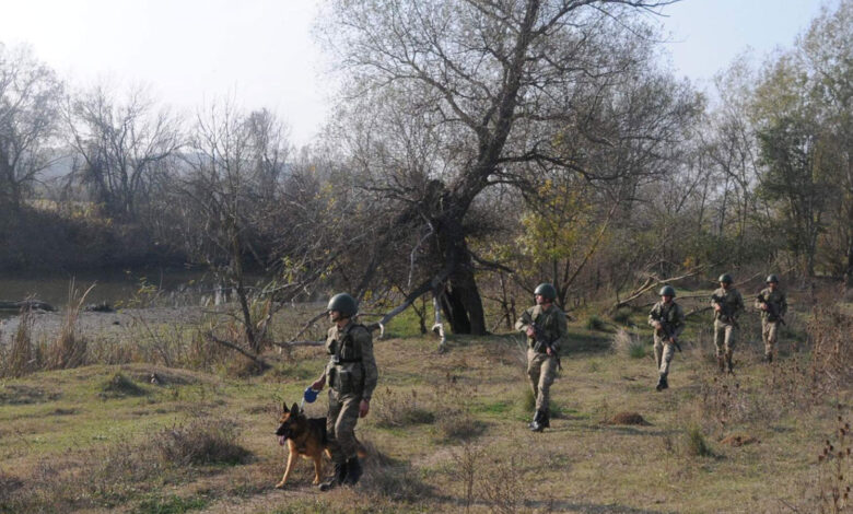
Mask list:
[[[329,382],[326,432],[332,460],[344,463],[355,457],[358,449],[359,404],[370,401],[378,379],[373,337],[352,320],[343,328],[335,325],[326,337],[326,351],[331,355],[323,374]]]

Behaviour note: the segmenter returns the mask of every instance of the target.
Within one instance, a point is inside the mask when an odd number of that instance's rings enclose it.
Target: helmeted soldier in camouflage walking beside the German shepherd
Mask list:
[[[330,359],[323,375],[312,384],[315,390],[322,390],[326,379],[329,381],[326,433],[335,476],[320,484],[322,491],[341,483],[351,486],[361,478],[355,423],[367,416],[378,379],[373,337],[364,325],[352,319],[359,311],[355,299],[347,293],[336,294],[329,301],[328,311],[334,323],[326,338]]]

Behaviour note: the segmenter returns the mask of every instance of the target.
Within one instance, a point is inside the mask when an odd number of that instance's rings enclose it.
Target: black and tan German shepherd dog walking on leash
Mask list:
[[[284,477],[276,484],[276,488],[282,489],[288,482],[288,477],[296,465],[296,456],[314,460],[314,484],[320,482],[323,477],[323,453],[331,457],[328,449],[328,439],[326,437],[326,418],[306,418],[304,412],[300,411],[296,404],[288,410],[288,405],[282,405],[281,417],[279,418],[279,430],[276,435],[279,436],[279,444],[288,444],[290,455],[288,455],[288,467],[284,469]]]

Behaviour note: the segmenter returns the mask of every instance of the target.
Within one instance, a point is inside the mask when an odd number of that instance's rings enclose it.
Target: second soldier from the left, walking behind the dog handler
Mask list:
[[[534,432],[541,432],[551,424],[548,393],[557,374],[558,351],[566,328],[565,314],[553,304],[557,299],[554,287],[539,284],[534,294],[536,305],[525,311],[515,328],[527,335],[527,376],[536,398],[536,412],[528,427]]]

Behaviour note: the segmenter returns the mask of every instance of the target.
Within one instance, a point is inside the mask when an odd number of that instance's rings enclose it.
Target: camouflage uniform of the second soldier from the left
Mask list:
[[[527,311],[515,323],[515,328],[523,332],[531,323],[541,329],[540,337],[551,342],[554,352],[560,350],[560,344],[565,339],[565,314],[557,305],[551,305],[546,311],[541,305],[536,305]],[[545,348],[539,348],[536,338],[527,338],[527,376],[530,379],[536,410],[548,412],[549,389],[557,374],[557,357],[549,355]]]

